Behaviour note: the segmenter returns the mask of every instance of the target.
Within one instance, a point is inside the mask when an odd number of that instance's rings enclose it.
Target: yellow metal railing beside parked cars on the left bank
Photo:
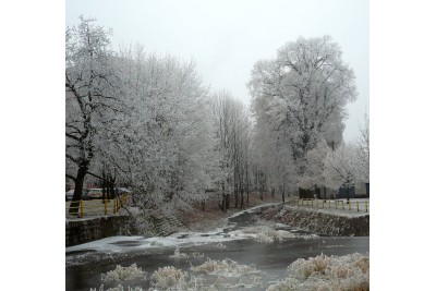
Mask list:
[[[78,201],[66,203],[66,217],[80,217],[85,216],[99,216],[99,215],[116,215],[120,211],[121,206],[129,202],[129,194],[122,194],[114,199],[90,199],[90,201]],[[76,206],[72,206],[72,203],[76,203]]]

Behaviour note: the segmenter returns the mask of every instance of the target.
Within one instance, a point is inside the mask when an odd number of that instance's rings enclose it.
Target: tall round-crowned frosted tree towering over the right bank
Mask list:
[[[298,174],[305,172],[305,156],[324,138],[339,145],[346,106],[354,101],[354,73],[341,59],[329,36],[300,37],[278,50],[274,60],[258,61],[247,86],[262,128],[287,129],[287,140]]]

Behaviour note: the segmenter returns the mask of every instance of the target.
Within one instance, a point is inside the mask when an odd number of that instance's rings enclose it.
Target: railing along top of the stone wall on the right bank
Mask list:
[[[314,208],[330,208],[330,209],[342,209],[349,211],[370,211],[370,202],[368,201],[347,201],[343,199],[314,199],[314,198],[303,198],[296,199],[296,206],[302,207],[314,207]]]

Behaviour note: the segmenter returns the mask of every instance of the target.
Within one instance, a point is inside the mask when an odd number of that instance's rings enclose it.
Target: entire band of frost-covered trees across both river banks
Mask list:
[[[110,35],[84,17],[65,34],[65,171],[74,202],[89,178],[126,184],[136,206],[168,211],[211,197],[222,210],[231,199],[243,207],[253,192],[284,199],[298,185],[336,179],[314,173],[346,148],[344,106],[356,93],[329,37],[300,38],[256,63],[250,112],[231,93],[210,93],[193,61],[141,46],[114,52]],[[367,144],[362,138],[361,175],[368,171],[368,135]],[[327,150],[325,141],[339,147]]]

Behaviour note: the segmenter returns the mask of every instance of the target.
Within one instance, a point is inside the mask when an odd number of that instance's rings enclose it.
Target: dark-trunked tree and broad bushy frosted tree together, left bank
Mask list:
[[[65,157],[73,201],[86,174],[101,177],[112,167],[141,207],[204,199],[213,187],[216,138],[195,64],[147,56],[141,46],[114,53],[110,31],[81,21],[66,29]]]

